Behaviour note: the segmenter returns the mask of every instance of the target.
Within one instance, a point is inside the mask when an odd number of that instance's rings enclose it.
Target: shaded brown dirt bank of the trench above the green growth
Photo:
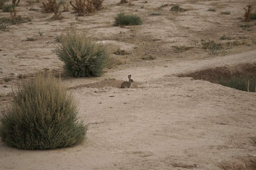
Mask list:
[[[218,83],[221,78],[230,78],[233,76],[256,76],[256,62],[242,63],[234,65],[224,65],[213,68],[204,68],[187,73],[180,73],[177,77],[192,77],[195,80],[207,80],[212,83]]]

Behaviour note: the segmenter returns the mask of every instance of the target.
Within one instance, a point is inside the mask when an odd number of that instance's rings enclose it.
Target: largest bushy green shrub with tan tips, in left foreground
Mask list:
[[[46,77],[46,78],[45,78]],[[60,79],[37,74],[19,84],[0,116],[0,137],[19,149],[54,149],[81,143],[87,125],[78,122],[77,102]]]

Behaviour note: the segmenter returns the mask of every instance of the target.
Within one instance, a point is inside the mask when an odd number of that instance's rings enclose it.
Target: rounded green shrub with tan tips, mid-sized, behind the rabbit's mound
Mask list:
[[[71,30],[61,33],[54,52],[64,62],[64,70],[73,77],[103,75],[109,54],[101,44],[92,41],[86,31]]]

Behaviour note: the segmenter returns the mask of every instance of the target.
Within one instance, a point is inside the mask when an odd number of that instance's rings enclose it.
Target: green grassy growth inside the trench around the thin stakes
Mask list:
[[[249,80],[249,92],[254,92],[255,85],[256,85],[256,76],[253,76],[253,77],[237,76],[237,77],[231,77],[226,79],[221,78],[218,84],[247,92],[248,80]]]

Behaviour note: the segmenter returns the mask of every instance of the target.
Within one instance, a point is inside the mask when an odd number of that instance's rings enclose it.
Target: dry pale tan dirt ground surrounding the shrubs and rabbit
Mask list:
[[[241,72],[255,75],[256,21],[244,22],[243,9],[255,7],[254,0],[105,0],[92,16],[77,17],[69,7],[62,20],[42,13],[42,1],[27,2],[20,2],[17,14],[32,21],[0,30],[0,107],[11,101],[3,96],[25,81],[20,75],[52,70],[61,74],[79,101],[81,120],[90,125],[87,139],[72,148],[25,151],[0,141],[0,169],[256,169],[256,93],[212,83]],[[188,11],[169,11],[176,3]],[[159,9],[162,4],[168,5]],[[121,10],[140,16],[143,24],[113,26]],[[148,15],[152,11],[162,13]],[[9,13],[1,11],[4,16]],[[251,27],[240,27],[246,24]],[[55,37],[71,27],[89,29],[123,64],[97,78],[66,75],[52,50]],[[223,35],[230,40],[220,40]],[[26,41],[31,37],[36,41]],[[201,39],[245,41],[209,55]],[[172,46],[193,48],[176,53]],[[117,48],[131,54],[112,54]],[[129,74],[132,88],[121,89]]]

